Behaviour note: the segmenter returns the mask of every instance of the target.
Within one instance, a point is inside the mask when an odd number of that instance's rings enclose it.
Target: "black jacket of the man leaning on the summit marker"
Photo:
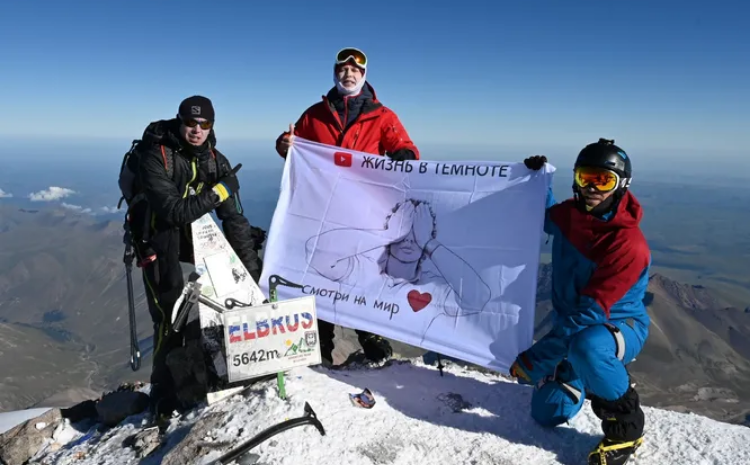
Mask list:
[[[243,215],[238,193],[222,203],[211,189],[219,178],[231,171],[229,161],[219,152],[213,130],[206,143],[193,147],[182,142],[179,121],[155,121],[148,125],[141,142],[141,159],[138,183],[154,213],[150,245],[157,257],[168,261],[166,268],[175,269],[179,261],[193,263],[190,224],[201,216],[216,210],[229,244],[239,256],[250,275],[260,279],[262,262],[258,256],[264,232],[252,228]],[[169,155],[172,151],[174,173],[170,178],[165,168],[161,146]],[[215,156],[215,163],[212,157]],[[191,161],[195,160],[193,173]],[[189,188],[196,195],[186,195]],[[260,232],[260,234],[259,234]]]

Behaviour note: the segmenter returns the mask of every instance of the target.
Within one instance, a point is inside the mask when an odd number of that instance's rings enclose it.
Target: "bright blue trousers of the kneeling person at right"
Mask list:
[[[580,411],[587,393],[614,401],[628,390],[630,376],[625,365],[643,349],[648,327],[638,321],[633,327],[625,321],[612,324],[622,337],[604,325],[582,330],[571,338],[567,355],[554,371],[536,384],[531,416],[539,424],[557,426],[570,420]]]

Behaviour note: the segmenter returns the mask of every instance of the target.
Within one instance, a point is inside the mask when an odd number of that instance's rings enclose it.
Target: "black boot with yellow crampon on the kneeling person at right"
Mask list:
[[[589,465],[623,465],[643,443],[645,417],[632,387],[615,401],[591,396],[591,408],[602,420],[604,439],[589,453]]]

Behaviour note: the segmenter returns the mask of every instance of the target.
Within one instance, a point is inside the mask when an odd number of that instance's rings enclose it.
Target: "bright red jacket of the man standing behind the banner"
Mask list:
[[[338,97],[336,89],[312,105],[294,125],[294,135],[321,144],[333,145],[375,155],[389,155],[399,160],[419,160],[419,150],[399,121],[396,113],[378,101],[375,89],[365,83],[356,97]],[[358,116],[346,126],[342,119]],[[276,151],[286,154],[279,142],[288,132],[276,139]],[[411,153],[409,153],[411,152]],[[413,155],[412,155],[413,154]]]

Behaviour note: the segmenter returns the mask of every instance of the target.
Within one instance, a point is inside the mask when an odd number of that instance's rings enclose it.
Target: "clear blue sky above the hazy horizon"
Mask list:
[[[272,148],[333,85],[335,53],[356,46],[424,147],[573,153],[607,137],[644,158],[746,161],[749,13],[741,1],[2,2],[0,137],[126,146],[202,94],[220,143]]]

